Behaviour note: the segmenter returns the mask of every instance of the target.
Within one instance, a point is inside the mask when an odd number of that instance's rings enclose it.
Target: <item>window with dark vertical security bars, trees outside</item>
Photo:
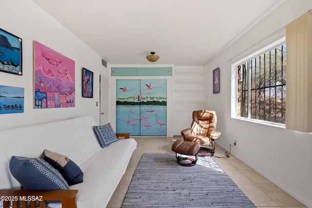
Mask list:
[[[285,124],[286,44],[235,65],[236,116]]]

